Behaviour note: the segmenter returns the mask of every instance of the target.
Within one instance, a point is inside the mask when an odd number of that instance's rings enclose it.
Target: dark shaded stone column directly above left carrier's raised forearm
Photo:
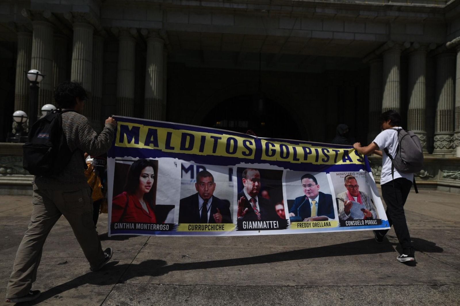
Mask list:
[[[93,126],[101,130],[102,118],[102,83],[104,74],[104,38],[93,36],[92,47],[92,102],[91,113],[94,120]]]

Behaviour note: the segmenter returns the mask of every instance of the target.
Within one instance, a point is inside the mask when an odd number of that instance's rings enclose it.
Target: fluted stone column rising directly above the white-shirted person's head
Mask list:
[[[394,45],[383,52],[383,99],[382,112],[401,109],[401,46]]]

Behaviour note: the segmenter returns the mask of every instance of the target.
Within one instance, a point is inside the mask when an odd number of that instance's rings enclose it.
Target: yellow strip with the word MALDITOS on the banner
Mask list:
[[[254,159],[254,139],[192,130],[175,130],[118,122],[116,147],[158,149],[170,153]]]

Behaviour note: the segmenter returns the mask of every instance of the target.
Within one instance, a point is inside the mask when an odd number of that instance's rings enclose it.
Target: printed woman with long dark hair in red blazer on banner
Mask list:
[[[112,222],[156,223],[155,161],[138,159],[131,164],[124,191],[112,200]]]

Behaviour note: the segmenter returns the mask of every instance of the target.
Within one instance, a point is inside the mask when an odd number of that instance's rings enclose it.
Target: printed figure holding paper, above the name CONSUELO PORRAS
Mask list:
[[[345,191],[337,194],[339,220],[377,219],[374,201],[368,193],[359,191],[356,177],[351,174],[345,176],[344,185]],[[364,181],[362,185],[365,185]]]

